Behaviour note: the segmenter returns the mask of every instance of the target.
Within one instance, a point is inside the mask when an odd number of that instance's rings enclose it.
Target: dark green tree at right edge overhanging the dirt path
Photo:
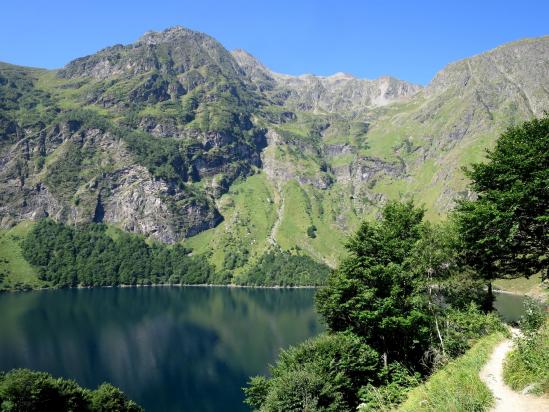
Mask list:
[[[461,255],[489,288],[498,277],[547,277],[549,117],[511,127],[466,170],[475,200],[456,207]]]

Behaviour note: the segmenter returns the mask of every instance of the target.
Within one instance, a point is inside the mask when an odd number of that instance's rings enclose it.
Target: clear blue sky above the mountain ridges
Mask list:
[[[147,30],[183,25],[273,70],[426,84],[449,62],[549,34],[547,0],[6,0],[0,61],[56,68]]]

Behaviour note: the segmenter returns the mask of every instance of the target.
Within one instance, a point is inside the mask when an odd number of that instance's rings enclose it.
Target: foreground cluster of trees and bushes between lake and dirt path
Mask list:
[[[478,283],[459,266],[456,226],[423,221],[389,202],[347,243],[348,257],[317,292],[328,333],[283,351],[271,377],[254,377],[261,411],[392,408],[422,376],[496,330],[478,307]]]

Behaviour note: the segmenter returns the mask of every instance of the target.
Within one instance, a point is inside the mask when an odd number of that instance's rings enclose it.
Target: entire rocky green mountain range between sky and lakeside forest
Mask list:
[[[387,199],[441,219],[509,125],[549,108],[549,36],[426,87],[274,73],[182,27],[60,70],[0,65],[0,220],[104,222],[183,241],[231,281],[266,252],[334,265]]]

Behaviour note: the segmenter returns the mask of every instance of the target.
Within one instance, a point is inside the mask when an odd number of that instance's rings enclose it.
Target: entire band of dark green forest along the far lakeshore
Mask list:
[[[147,242],[126,232],[110,235],[104,224],[68,226],[39,221],[21,243],[25,259],[54,287],[154,284],[228,284],[205,256],[175,244]],[[308,256],[271,251],[250,269],[245,285],[318,285],[329,268]]]

